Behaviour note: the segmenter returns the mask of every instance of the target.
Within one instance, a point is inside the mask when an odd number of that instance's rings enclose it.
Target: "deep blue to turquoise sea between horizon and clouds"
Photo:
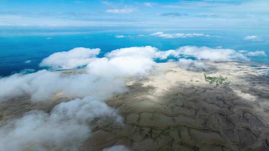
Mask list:
[[[148,36],[161,29],[129,28],[79,28],[79,29],[12,29],[0,30],[0,75],[10,75],[23,69],[39,70],[41,60],[54,52],[68,51],[75,47],[100,48],[105,53],[124,47],[150,45],[160,50],[176,49],[181,46],[207,46],[247,51],[265,51],[268,56],[249,57],[251,61],[269,64],[269,33],[238,29],[184,29],[165,33],[203,33],[219,37],[190,37],[163,39]],[[145,36],[138,36],[143,34]],[[127,38],[116,38],[125,35]],[[263,41],[246,41],[243,37],[257,35]],[[30,63],[25,61],[30,60]]]

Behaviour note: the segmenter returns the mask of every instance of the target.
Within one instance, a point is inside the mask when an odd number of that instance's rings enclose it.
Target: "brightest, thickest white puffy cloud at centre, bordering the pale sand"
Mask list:
[[[117,77],[147,75],[155,64],[153,58],[156,51],[151,46],[113,50],[105,55],[106,58],[90,63],[88,69],[96,75],[105,71]]]

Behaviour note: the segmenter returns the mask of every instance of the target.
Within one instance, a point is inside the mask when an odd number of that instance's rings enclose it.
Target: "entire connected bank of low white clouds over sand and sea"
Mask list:
[[[47,70],[19,73],[0,78],[0,102],[14,96],[29,95],[32,102],[46,103],[57,96],[70,101],[56,105],[50,113],[31,111],[22,118],[9,120],[0,127],[0,149],[4,151],[78,151],[91,135],[90,123],[107,117],[121,123],[117,111],[104,102],[108,97],[126,92],[128,78],[137,78],[153,70],[155,59],[173,57],[189,71],[210,70],[204,60],[248,61],[246,56],[263,52],[237,52],[232,49],[184,46],[160,51],[151,46],[114,50],[98,58],[100,49],[75,48],[45,58],[40,66],[74,69],[84,66],[83,74],[67,75]],[[189,60],[185,58],[195,58]],[[22,139],[23,138],[23,139]],[[128,151],[122,146],[104,151]]]

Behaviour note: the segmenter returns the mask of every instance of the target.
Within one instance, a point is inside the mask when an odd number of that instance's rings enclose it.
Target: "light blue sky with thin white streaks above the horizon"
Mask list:
[[[269,0],[0,0],[0,26],[265,28]]]

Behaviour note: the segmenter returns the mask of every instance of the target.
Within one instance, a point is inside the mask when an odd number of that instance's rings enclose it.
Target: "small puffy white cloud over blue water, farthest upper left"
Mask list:
[[[100,49],[74,48],[67,52],[57,52],[42,60],[41,67],[51,67],[55,70],[74,69],[88,65]]]

